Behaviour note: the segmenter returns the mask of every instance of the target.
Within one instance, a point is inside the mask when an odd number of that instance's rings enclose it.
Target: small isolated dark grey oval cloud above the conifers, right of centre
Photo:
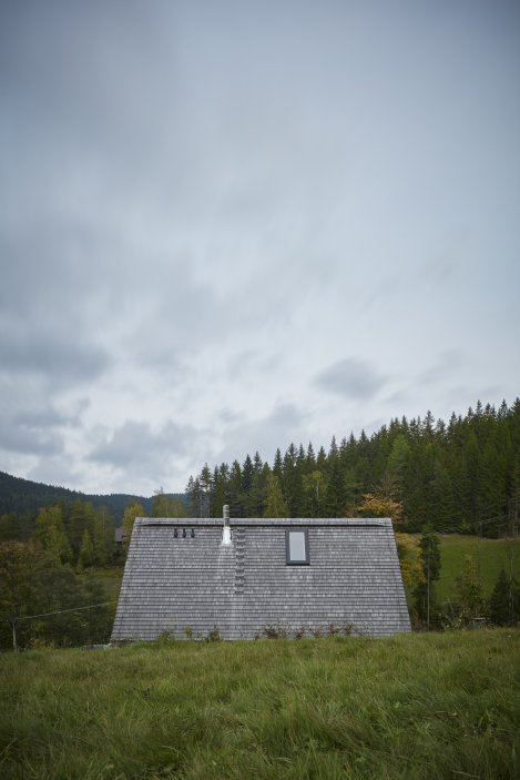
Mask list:
[[[360,401],[375,396],[386,384],[387,377],[358,357],[346,357],[322,371],[315,378],[318,387]]]

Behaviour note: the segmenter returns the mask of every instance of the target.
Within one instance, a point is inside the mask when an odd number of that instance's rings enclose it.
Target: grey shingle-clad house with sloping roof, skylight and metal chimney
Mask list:
[[[409,630],[389,519],[137,518],[112,641]]]

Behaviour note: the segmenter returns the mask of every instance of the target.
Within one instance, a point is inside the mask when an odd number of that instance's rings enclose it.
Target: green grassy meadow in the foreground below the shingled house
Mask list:
[[[0,656],[0,776],[518,777],[520,632]]]

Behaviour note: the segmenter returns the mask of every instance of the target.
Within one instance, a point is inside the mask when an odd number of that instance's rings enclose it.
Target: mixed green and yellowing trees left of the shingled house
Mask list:
[[[179,498],[162,488],[151,516],[182,516]],[[0,648],[72,647],[108,641],[115,604],[95,568],[123,564],[139,502],[124,510],[123,544],[114,539],[106,507],[90,502],[42,506],[35,516],[0,516]]]

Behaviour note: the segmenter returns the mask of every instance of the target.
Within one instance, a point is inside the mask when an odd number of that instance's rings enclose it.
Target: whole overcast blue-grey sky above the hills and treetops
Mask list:
[[[519,77],[516,0],[2,0],[0,470],[512,403]]]

